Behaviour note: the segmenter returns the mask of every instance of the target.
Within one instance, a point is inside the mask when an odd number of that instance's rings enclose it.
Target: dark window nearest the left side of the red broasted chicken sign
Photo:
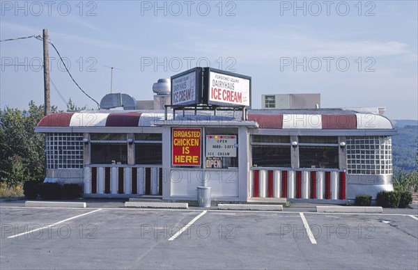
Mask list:
[[[135,164],[162,164],[162,134],[135,134]]]

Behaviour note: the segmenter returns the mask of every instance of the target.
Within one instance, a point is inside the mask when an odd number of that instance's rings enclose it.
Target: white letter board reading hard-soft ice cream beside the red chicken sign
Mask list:
[[[206,157],[236,157],[237,136],[206,135]]]

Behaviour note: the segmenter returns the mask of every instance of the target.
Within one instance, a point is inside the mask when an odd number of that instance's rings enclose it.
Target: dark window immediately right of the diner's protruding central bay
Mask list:
[[[252,136],[252,166],[291,167],[291,139],[289,136]]]

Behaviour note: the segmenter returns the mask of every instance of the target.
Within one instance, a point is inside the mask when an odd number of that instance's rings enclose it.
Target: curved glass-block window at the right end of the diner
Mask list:
[[[389,136],[350,136],[346,148],[348,173],[392,173],[392,139]]]

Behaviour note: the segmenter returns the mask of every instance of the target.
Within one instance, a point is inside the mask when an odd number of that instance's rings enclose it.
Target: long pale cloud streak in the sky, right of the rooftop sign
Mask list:
[[[233,31],[232,31],[233,32]],[[237,33],[237,32],[235,32]],[[247,29],[246,33],[234,35],[233,38],[219,42],[197,37],[189,37],[184,44],[177,44],[181,48],[187,45],[195,54],[204,52],[222,52],[223,55],[234,56],[241,60],[257,63],[259,61],[277,61],[281,57],[376,57],[399,56],[410,54],[408,45],[403,42],[378,42],[370,40],[338,41],[326,38],[311,38],[295,32],[285,32],[277,35],[277,31],[260,33]],[[227,36],[217,33],[218,36]],[[208,33],[208,36],[213,36]],[[248,42],[248,39],[251,42]]]

